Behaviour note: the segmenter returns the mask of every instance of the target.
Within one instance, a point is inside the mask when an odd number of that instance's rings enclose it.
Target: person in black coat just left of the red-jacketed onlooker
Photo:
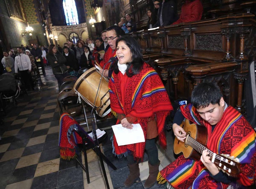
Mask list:
[[[179,15],[177,13],[176,1],[163,0],[160,8],[158,9],[157,23],[153,26],[153,28],[171,25],[178,19]]]

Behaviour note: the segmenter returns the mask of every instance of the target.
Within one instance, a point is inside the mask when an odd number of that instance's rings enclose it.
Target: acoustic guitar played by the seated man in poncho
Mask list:
[[[184,142],[179,141],[176,137],[174,140],[174,153],[183,153],[185,158],[192,158],[195,161],[200,160],[203,150],[207,149],[207,129],[204,126],[191,123],[185,120],[180,126],[186,132],[186,139]],[[240,173],[239,159],[229,156],[228,154],[216,154],[207,149],[211,162],[213,162],[218,169],[232,177],[237,177]]]

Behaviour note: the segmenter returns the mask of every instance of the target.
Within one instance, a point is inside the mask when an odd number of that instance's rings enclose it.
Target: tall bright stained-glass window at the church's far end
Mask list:
[[[67,25],[79,24],[76,3],[74,0],[63,0],[63,9]]]

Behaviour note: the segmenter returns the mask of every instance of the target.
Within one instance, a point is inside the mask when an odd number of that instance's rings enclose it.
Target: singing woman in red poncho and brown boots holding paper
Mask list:
[[[115,136],[113,146],[115,155],[124,155],[128,160],[130,174],[125,186],[130,186],[140,176],[138,161],[143,159],[144,151],[149,157],[149,177],[145,188],[156,182],[158,151],[155,138],[166,147],[164,122],[173,109],[164,85],[157,72],[142,60],[140,46],[131,36],[122,36],[116,41],[118,63],[109,82],[111,109],[118,123],[127,129],[139,123],[144,132],[145,142],[118,146]]]

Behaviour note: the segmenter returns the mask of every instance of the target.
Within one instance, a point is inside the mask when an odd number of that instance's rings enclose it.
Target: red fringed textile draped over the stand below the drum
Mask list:
[[[82,144],[82,138],[73,132],[74,129],[80,127],[80,125],[74,120],[69,114],[63,113],[60,118],[60,131],[59,131],[59,146],[60,146],[60,157],[64,160],[70,160],[76,157],[76,144]],[[81,128],[81,127],[80,127]],[[85,136],[91,142],[92,138],[81,128]]]

